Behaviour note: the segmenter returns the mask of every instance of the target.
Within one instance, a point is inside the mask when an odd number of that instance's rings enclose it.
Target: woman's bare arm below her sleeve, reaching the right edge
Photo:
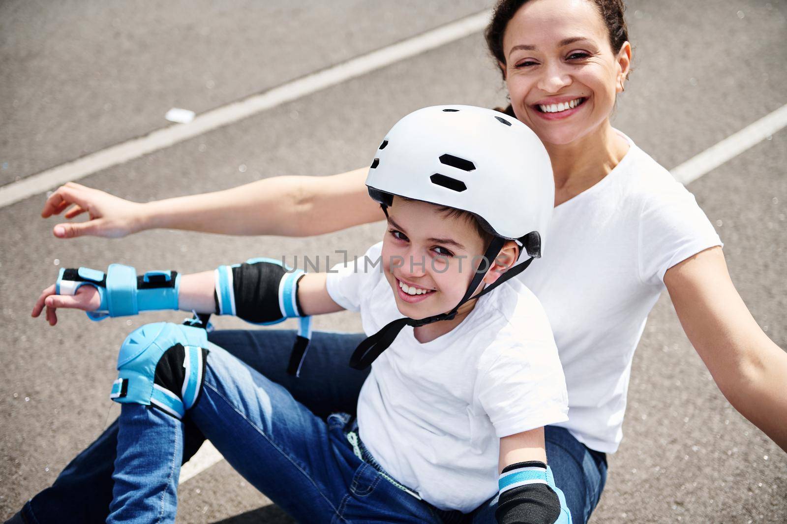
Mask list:
[[[674,265],[664,283],[685,334],[726,399],[787,451],[787,352],[748,312],[722,249]]]

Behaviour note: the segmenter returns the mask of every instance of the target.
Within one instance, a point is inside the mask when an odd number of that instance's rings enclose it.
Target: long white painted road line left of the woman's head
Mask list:
[[[0,208],[472,35],[486,27],[491,13],[490,10],[486,10],[456,20],[456,22],[432,29],[421,35],[295,79],[264,93],[222,105],[198,115],[189,124],[164,127],[151,132],[150,135],[132,138],[116,146],[88,154],[76,161],[61,164],[36,175],[28,176],[19,182],[2,186],[0,187]]]

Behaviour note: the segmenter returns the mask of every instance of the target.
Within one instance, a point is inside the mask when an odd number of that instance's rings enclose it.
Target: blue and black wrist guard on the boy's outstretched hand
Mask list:
[[[177,271],[148,271],[136,275],[131,266],[111,264],[107,272],[91,268],[61,268],[55,293],[74,295],[82,286],[93,286],[101,297],[96,311],[87,312],[91,320],[108,316],[136,315],[141,311],[178,308]]]

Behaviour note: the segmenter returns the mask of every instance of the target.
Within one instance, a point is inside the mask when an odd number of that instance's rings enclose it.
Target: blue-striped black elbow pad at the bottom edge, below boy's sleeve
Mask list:
[[[571,524],[566,497],[543,462],[515,463],[498,480],[495,518],[499,524]]]

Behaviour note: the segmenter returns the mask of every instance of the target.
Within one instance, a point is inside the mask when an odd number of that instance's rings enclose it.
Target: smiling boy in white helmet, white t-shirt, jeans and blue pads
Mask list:
[[[124,267],[61,271],[57,292],[89,285],[93,316],[180,308],[272,323],[345,308],[371,334],[353,356],[354,367],[375,362],[357,420],[326,424],[197,327],[135,330],[113,386],[124,406],[108,522],[174,522],[186,413],[304,522],[460,522],[498,490],[484,508],[498,522],[570,522],[543,437],[567,420],[563,372],[540,304],[510,280],[532,260],[512,268],[520,249],[541,256],[552,212],[541,142],[491,110],[421,109],[386,136],[367,185],[385,237],[333,272],[290,273],[268,259],[139,279]],[[307,321],[293,371],[308,335]]]

